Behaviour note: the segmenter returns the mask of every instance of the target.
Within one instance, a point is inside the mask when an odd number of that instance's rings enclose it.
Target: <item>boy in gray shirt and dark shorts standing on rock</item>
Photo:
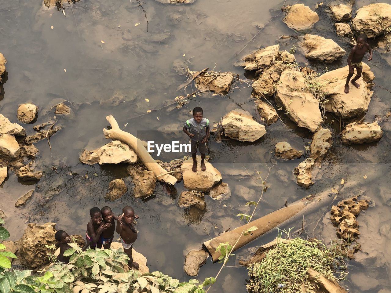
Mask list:
[[[193,172],[197,172],[197,148],[201,153],[201,171],[206,170],[205,166],[205,153],[206,153],[206,141],[209,136],[209,120],[203,118],[204,111],[201,107],[195,107],[193,110],[193,118],[185,122],[183,132],[185,132],[190,138],[191,154],[193,158]]]

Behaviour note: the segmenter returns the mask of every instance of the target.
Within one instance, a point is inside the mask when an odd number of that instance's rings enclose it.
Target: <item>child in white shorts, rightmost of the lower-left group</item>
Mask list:
[[[124,252],[126,252],[130,259],[127,265],[129,268],[138,270],[139,265],[133,261],[132,256],[133,243],[137,239],[137,231],[133,223],[135,219],[138,219],[138,215],[135,215],[133,207],[124,207],[122,209],[122,215],[118,216],[117,233],[120,234],[122,247],[124,247]]]

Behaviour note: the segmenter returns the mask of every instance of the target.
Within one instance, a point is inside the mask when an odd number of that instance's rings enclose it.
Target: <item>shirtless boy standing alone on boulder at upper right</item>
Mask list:
[[[367,41],[366,34],[360,34],[359,38],[357,39],[357,45],[353,47],[352,52],[350,52],[349,54],[348,57],[349,75],[346,78],[345,94],[349,93],[349,80],[352,78],[354,74],[354,68],[357,69],[357,75],[352,79],[352,84],[356,88],[360,87],[360,85],[356,82],[356,80],[361,77],[362,58],[364,58],[364,55],[367,51],[369,51],[368,61],[372,60],[372,49],[366,41]]]

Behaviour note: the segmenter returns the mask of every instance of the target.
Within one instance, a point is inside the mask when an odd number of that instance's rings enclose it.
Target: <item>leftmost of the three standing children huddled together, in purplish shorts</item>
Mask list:
[[[109,229],[111,227],[111,223],[102,223],[102,213],[100,212],[99,207],[93,207],[90,209],[91,221],[87,224],[87,232],[86,232],[86,240],[87,243],[83,247],[83,251],[88,247],[95,249],[102,248],[102,243],[100,243],[100,234],[102,231]]]

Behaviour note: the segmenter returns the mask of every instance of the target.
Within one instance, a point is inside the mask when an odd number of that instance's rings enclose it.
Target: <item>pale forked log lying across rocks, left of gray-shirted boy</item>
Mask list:
[[[129,132],[121,130],[113,116],[106,116],[106,120],[109,121],[111,125],[111,129],[103,129],[103,134],[107,139],[116,139],[131,147],[136,152],[145,168],[152,171],[159,181],[172,185],[176,183],[176,178],[168,174],[167,170],[163,169],[158,163],[156,163],[149,152],[147,152],[147,149],[143,146],[140,139],[136,138]]]

